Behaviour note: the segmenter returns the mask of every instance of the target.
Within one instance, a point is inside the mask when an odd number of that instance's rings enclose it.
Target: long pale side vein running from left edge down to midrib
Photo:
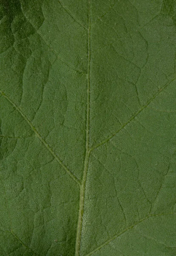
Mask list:
[[[32,125],[32,123],[29,121],[29,119],[25,116],[25,114],[21,111],[21,109],[9,98],[9,96],[7,96],[2,90],[0,90],[0,93],[11,103],[11,105],[14,106],[14,108],[21,114],[21,116],[23,116],[23,118],[26,120],[26,122],[28,123],[28,125],[31,126],[32,131],[34,131],[34,133],[37,135],[37,137],[41,140],[41,142],[45,145],[45,147],[48,149],[48,151],[50,151],[50,153],[54,156],[54,158],[57,160],[58,163],[60,163],[60,165],[63,167],[63,169],[68,173],[68,175],[70,175],[70,177],[80,186],[80,181],[77,179],[76,176],[74,176],[74,174],[68,170],[68,168],[65,166],[64,163],[62,163],[62,161],[60,160],[60,158],[57,156],[57,154],[54,153],[54,151],[52,150],[52,148],[48,145],[48,143],[43,139],[43,137],[39,134],[39,132],[36,130],[36,128],[34,127],[34,125]]]

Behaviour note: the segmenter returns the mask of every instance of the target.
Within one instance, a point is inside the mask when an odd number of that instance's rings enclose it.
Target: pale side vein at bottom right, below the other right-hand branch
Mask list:
[[[102,247],[106,246],[107,244],[109,244],[111,241],[113,241],[114,239],[118,238],[119,236],[121,236],[122,234],[124,234],[125,232],[127,232],[128,230],[131,230],[133,227],[137,226],[139,223],[147,220],[148,218],[151,217],[159,217],[159,216],[163,216],[163,215],[172,215],[172,214],[176,214],[176,212],[170,212],[170,213],[161,213],[161,214],[150,214],[148,216],[146,216],[145,218],[142,218],[140,221],[134,223],[133,225],[131,225],[130,227],[125,228],[124,230],[122,230],[121,232],[119,232],[118,234],[112,236],[110,239],[108,239],[107,241],[105,241],[103,244],[99,245],[99,247],[97,247],[96,249],[92,250],[90,253],[88,253],[86,256],[91,256],[92,254],[96,253],[98,250],[102,249]]]

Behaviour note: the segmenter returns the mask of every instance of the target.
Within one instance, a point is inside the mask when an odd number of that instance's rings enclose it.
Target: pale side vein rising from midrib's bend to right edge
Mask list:
[[[159,95],[159,93],[161,93],[163,90],[165,90],[165,88],[171,84],[174,80],[176,80],[176,78],[174,77],[172,80],[170,80],[169,82],[167,82],[165,84],[164,87],[162,87],[162,89],[160,89],[152,98],[149,99],[149,101],[144,105],[142,106],[142,108],[139,109],[139,111],[137,111],[133,116],[131,116],[131,118],[125,122],[125,124],[123,124],[114,134],[112,134],[110,137],[108,137],[107,139],[105,140],[102,140],[102,142],[98,143],[97,145],[93,146],[90,151],[93,151],[95,148],[98,148],[100,147],[101,145],[107,143],[109,140],[111,140],[116,134],[119,133],[119,131],[121,131],[123,128],[125,128],[126,125],[128,125],[131,121],[133,121],[133,119],[135,119],[135,117],[140,113],[142,112],[145,108],[148,107],[148,105],[153,102],[153,100]]]

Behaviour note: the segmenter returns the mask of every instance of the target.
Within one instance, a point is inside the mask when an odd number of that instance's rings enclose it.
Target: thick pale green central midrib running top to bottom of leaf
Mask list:
[[[87,110],[86,110],[86,140],[85,140],[85,160],[84,160],[84,172],[82,177],[82,183],[80,186],[79,195],[79,215],[77,224],[77,237],[75,256],[79,256],[81,231],[82,231],[82,217],[84,213],[84,199],[85,199],[85,182],[88,172],[88,162],[90,156],[89,150],[89,118],[90,118],[90,64],[91,64],[91,0],[88,0],[88,72],[87,72]]]

